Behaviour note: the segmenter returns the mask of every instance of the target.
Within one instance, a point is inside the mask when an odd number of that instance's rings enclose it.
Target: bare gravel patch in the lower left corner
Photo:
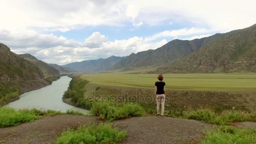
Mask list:
[[[14,127],[0,128],[0,144],[49,144],[67,128],[96,121],[97,117],[56,115]]]

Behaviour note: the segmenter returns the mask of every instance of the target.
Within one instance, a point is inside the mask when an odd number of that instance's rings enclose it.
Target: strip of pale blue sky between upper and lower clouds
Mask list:
[[[64,36],[68,39],[74,39],[83,43],[85,38],[89,37],[93,32],[100,32],[101,34],[108,37],[108,40],[123,40],[128,39],[130,37],[138,36],[138,37],[149,37],[159,32],[163,32],[165,30],[175,30],[175,29],[182,29],[184,27],[194,27],[195,24],[190,24],[188,22],[181,22],[181,23],[173,23],[170,21],[163,21],[161,25],[156,26],[149,26],[144,25],[141,27],[134,27],[133,23],[128,22],[123,27],[108,27],[108,26],[88,26],[88,27],[80,27],[77,29],[73,29],[67,32],[44,32],[45,34],[53,33],[56,36]],[[215,32],[216,33],[216,32]],[[209,32],[209,34],[215,34],[214,32]],[[186,38],[188,36],[181,36],[179,38]],[[169,37],[166,40],[171,41],[173,38]]]

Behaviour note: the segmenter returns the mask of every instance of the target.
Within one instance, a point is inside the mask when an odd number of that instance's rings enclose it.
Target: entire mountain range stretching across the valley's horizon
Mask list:
[[[38,79],[42,73],[45,76],[59,75],[59,72],[97,73],[138,67],[154,67],[148,73],[256,72],[256,24],[195,40],[172,40],[155,50],[129,56],[110,56],[63,66],[47,64],[30,54],[16,55],[6,45],[0,46],[1,80]],[[31,75],[26,76],[28,71]]]

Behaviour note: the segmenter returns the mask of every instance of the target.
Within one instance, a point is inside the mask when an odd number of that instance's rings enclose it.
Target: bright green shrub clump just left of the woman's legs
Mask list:
[[[143,112],[144,109],[139,104],[116,105],[110,102],[94,102],[91,108],[92,115],[110,121],[127,117],[139,117]]]

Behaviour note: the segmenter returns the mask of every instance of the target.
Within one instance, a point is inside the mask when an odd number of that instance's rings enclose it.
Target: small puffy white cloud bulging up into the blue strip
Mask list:
[[[107,42],[105,35],[101,35],[100,32],[93,32],[90,37],[85,39],[84,46],[88,48],[98,48],[105,42]]]

